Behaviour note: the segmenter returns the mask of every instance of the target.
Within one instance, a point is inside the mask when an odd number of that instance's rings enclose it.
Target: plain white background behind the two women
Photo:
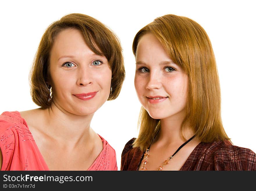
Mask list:
[[[40,38],[52,22],[69,13],[92,16],[120,38],[126,78],[119,97],[94,115],[92,128],[116,150],[118,170],[125,143],[137,137],[140,103],[134,89],[134,35],[154,18],[176,14],[198,22],[216,56],[222,119],[232,142],[256,152],[254,1],[1,1],[0,113],[38,108],[30,96],[29,70]]]

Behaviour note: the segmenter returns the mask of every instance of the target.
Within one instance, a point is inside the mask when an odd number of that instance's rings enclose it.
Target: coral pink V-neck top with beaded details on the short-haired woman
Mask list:
[[[115,150],[104,140],[103,149],[88,170],[117,170]],[[48,170],[29,127],[18,111],[0,115],[1,170]]]

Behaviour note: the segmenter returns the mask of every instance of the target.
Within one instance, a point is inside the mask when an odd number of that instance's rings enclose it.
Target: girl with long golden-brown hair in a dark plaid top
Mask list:
[[[139,135],[121,170],[256,170],[256,155],[232,144],[221,121],[211,42],[195,21],[164,15],[133,41]]]

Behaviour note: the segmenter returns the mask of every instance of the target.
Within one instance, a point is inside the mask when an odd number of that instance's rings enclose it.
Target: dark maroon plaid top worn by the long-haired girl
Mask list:
[[[144,152],[132,148],[135,138],[122,151],[120,170],[138,170]],[[199,143],[180,170],[256,170],[256,154],[228,141]]]

